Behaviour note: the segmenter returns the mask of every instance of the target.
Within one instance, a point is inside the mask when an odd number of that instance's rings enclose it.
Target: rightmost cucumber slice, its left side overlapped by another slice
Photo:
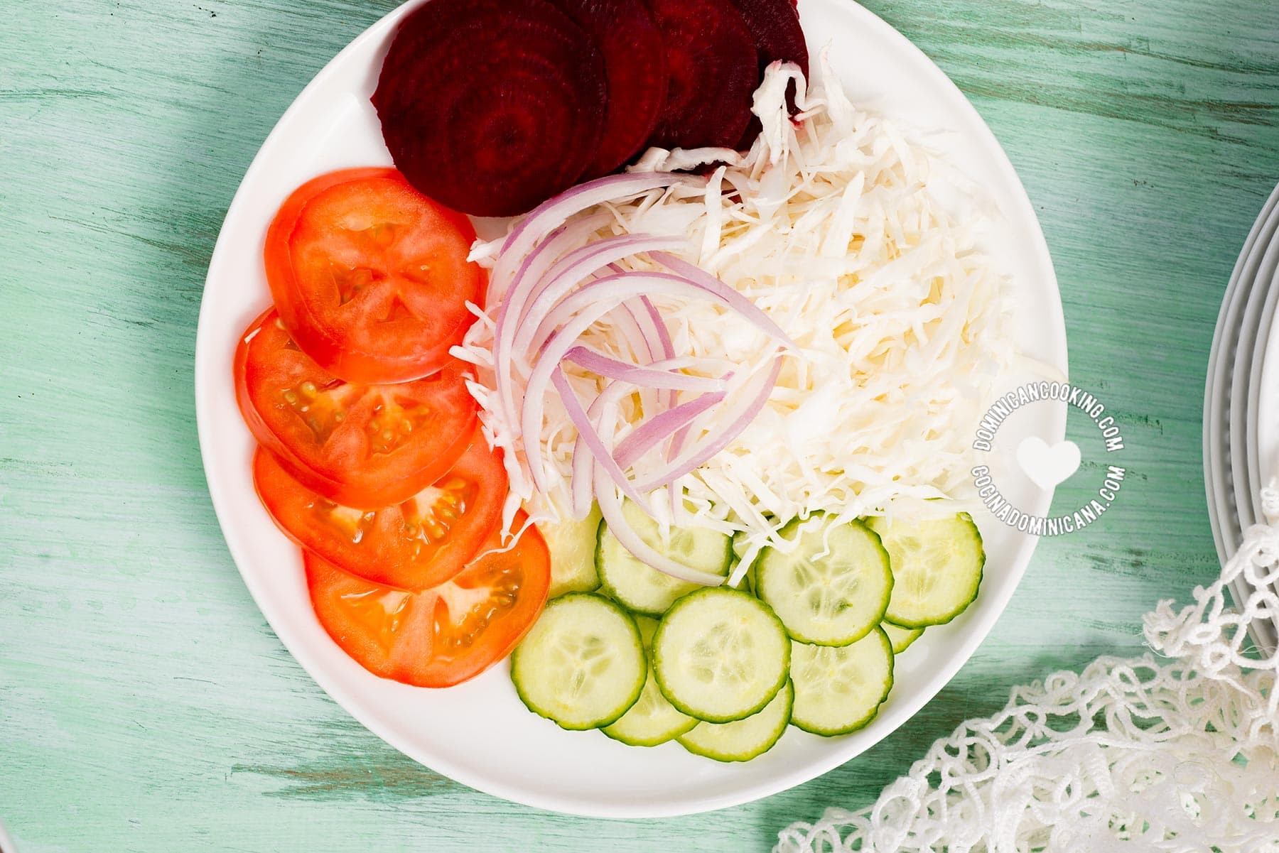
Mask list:
[[[968,513],[906,524],[871,519],[893,565],[884,618],[902,628],[950,622],[977,597],[986,551]]]

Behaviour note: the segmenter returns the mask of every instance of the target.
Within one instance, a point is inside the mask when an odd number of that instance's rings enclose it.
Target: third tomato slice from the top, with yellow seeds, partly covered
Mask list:
[[[437,481],[384,509],[343,506],[299,483],[258,448],[253,482],[290,538],[334,565],[379,583],[423,590],[466,568],[501,522],[509,491],[501,454],[476,431]]]

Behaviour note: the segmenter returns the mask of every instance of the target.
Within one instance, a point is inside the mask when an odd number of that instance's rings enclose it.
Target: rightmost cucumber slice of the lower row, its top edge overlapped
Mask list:
[[[790,723],[813,734],[847,734],[875,719],[893,688],[893,647],[876,628],[852,646],[796,643]]]

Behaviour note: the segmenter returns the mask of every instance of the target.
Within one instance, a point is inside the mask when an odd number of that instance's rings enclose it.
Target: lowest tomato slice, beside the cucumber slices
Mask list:
[[[537,529],[500,552],[491,550],[499,533],[455,578],[417,592],[366,581],[304,551],[316,616],[375,675],[417,687],[475,678],[524,638],[550,590],[550,555]]]

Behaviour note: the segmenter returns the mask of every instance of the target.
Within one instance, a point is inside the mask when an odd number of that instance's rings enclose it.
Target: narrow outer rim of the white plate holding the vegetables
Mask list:
[[[338,54],[335,54],[329,63],[312,78],[312,81],[302,90],[302,92],[294,98],[289,107],[281,114],[280,119],[276,121],[271,130],[271,134],[276,129],[285,124],[293,113],[299,109],[299,105],[304,101],[304,96],[326,84],[327,81],[336,73],[335,69],[340,67],[340,61],[349,52],[361,50],[368,41],[382,38],[390,26],[403,14],[405,14],[407,8],[416,5],[420,0],[409,0],[408,3],[391,10],[368,28],[356,36],[347,46],[344,46]],[[801,0],[806,3],[806,0]],[[999,143],[994,132],[981,118],[976,107],[968,101],[963,92],[955,86],[949,77],[923,54],[913,42],[911,42],[904,35],[893,28],[889,23],[875,15],[875,13],[854,3],[842,3],[839,4],[839,10],[842,14],[851,15],[859,26],[871,28],[875,31],[874,37],[881,38],[890,43],[894,52],[900,52],[904,58],[908,58],[913,65],[916,65],[922,74],[929,78],[929,88],[935,90],[939,95],[944,95],[954,107],[964,114],[972,120],[975,128],[975,138],[980,142],[984,155],[990,155],[990,166],[993,170],[1001,174],[1003,179],[1007,182],[1010,192],[1008,194],[1008,201],[1012,205],[1012,210],[1008,211],[1009,215],[1021,216],[1026,221],[1031,223],[1033,226],[1033,246],[1031,252],[1033,253],[1033,260],[1036,263],[1036,271],[1042,271],[1045,274],[1044,280],[1040,281],[1040,288],[1045,293],[1051,293],[1055,298],[1048,301],[1046,306],[1041,306],[1041,311],[1049,315],[1045,321],[1045,327],[1051,327],[1054,333],[1053,343],[1059,349],[1055,353],[1055,358],[1059,363],[1054,363],[1053,367],[1059,368],[1062,377],[1068,375],[1068,348],[1067,348],[1067,335],[1065,335],[1065,321],[1064,321],[1064,307],[1062,304],[1060,289],[1056,280],[1056,272],[1053,265],[1051,254],[1048,249],[1048,242],[1042,231],[1042,226],[1035,215],[1035,208],[1030,201],[1026,188],[1017,175],[1012,161],[1008,159],[1007,152]],[[242,194],[246,193],[246,188],[253,183],[256,175],[266,168],[265,157],[262,151],[267,146],[267,141],[271,137],[267,136],[262,143],[262,148],[255,155],[253,161],[246,170],[244,178],[240,185],[237,188],[231,203],[228,207],[226,219],[237,211],[237,202],[240,201]],[[220,261],[226,253],[230,252],[229,246],[224,242],[225,229],[220,230],[217,244],[215,246],[212,258],[210,261],[208,278],[206,279],[206,285],[208,281],[214,280],[215,271],[220,267]],[[370,732],[376,734],[384,742],[386,742],[393,748],[407,755],[414,761],[430,767],[435,772],[445,775],[454,779],[462,784],[469,785],[477,790],[501,797],[504,799],[523,803],[527,806],[533,806],[537,808],[544,808],[549,811],[581,815],[590,817],[674,817],[679,815],[698,813],[706,811],[714,811],[720,808],[726,808],[730,806],[753,802],[764,797],[769,797],[781,790],[787,790],[798,784],[816,779],[830,770],[840,766],[842,763],[856,757],[865,751],[862,747],[857,749],[842,749],[838,742],[833,742],[831,749],[826,752],[822,761],[810,762],[802,766],[801,770],[796,772],[781,774],[779,778],[774,779],[769,784],[757,784],[753,788],[746,788],[739,790],[733,790],[720,795],[709,795],[703,799],[689,804],[671,804],[668,807],[655,808],[651,804],[643,804],[640,808],[631,808],[618,803],[602,804],[600,802],[590,802],[585,806],[578,803],[565,803],[559,795],[545,797],[538,792],[530,792],[521,789],[518,786],[512,786],[503,783],[495,783],[492,778],[476,778],[468,769],[459,769],[454,766],[450,761],[441,761],[439,757],[425,758],[418,753],[416,748],[405,748],[405,743],[394,733],[389,732],[390,726],[382,725],[380,720],[372,719],[371,715],[365,712],[365,708],[358,701],[354,701],[347,694],[347,691],[338,683],[335,678],[330,678],[326,669],[321,665],[318,660],[318,653],[313,653],[308,650],[304,643],[290,643],[285,639],[292,632],[280,632],[278,625],[274,624],[271,618],[267,615],[269,607],[263,606],[265,591],[258,586],[258,582],[253,577],[253,573],[244,569],[246,561],[239,559],[238,549],[233,545],[233,536],[228,532],[231,529],[229,524],[229,501],[231,497],[225,494],[220,494],[221,489],[215,485],[220,482],[212,466],[212,437],[210,430],[212,428],[212,414],[210,408],[212,402],[210,400],[212,390],[206,384],[201,387],[201,376],[205,375],[207,370],[202,367],[208,364],[214,356],[211,352],[215,349],[212,339],[216,336],[211,329],[211,321],[208,316],[211,309],[208,308],[210,301],[202,298],[201,311],[200,311],[200,324],[196,339],[196,371],[194,371],[194,391],[196,391],[196,413],[197,413],[197,432],[200,436],[201,446],[201,459],[205,467],[206,481],[208,483],[210,496],[212,499],[214,510],[217,515],[219,524],[223,529],[224,540],[226,541],[228,549],[231,552],[231,558],[235,563],[237,570],[244,579],[246,586],[252,595],[255,604],[262,611],[262,615],[271,624],[272,630],[280,639],[281,645],[289,651],[289,653],[298,661],[299,665],[307,671],[312,680],[321,687],[334,701],[341,706],[341,708],[353,716]],[[1046,439],[1053,441],[1059,441],[1065,435],[1065,405],[1054,407],[1051,411],[1049,423],[1049,435]],[[1048,492],[1039,492],[1037,497],[1031,501],[1027,508],[1030,512],[1037,515],[1042,515],[1048,512],[1055,490]],[[976,651],[977,646],[987,637],[993,629],[995,622],[1005,611],[1009,600],[1016,592],[1017,587],[1021,584],[1026,570],[1030,567],[1031,559],[1037,545],[1037,538],[1026,536],[1022,538],[1016,549],[1010,554],[1009,565],[1007,570],[1012,578],[1012,582],[1007,584],[1007,588],[1001,590],[999,595],[995,592],[989,593],[993,601],[993,610],[990,614],[982,614],[980,619],[975,619],[972,625],[966,627],[962,639],[957,643],[959,647],[959,653],[955,653],[948,659],[946,665],[939,666],[935,670],[930,684],[935,684],[931,689],[925,689],[921,692],[921,697],[913,707],[903,706],[898,710],[897,717],[888,725],[883,735],[876,740],[881,742],[889,734],[891,734],[897,728],[912,719],[925,705],[927,705],[936,694],[949,684],[955,673],[964,664],[967,664],[972,653]],[[987,599],[987,601],[991,601]]]

